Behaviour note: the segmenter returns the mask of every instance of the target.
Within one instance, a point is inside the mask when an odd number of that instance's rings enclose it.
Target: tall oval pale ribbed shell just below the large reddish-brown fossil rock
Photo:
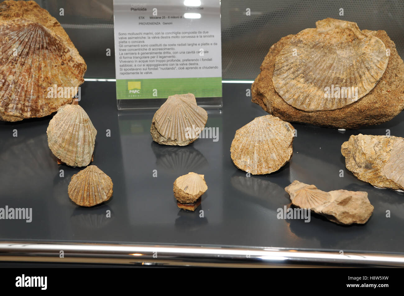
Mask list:
[[[48,146],[68,166],[88,166],[94,152],[97,130],[79,105],[65,105],[50,120]]]

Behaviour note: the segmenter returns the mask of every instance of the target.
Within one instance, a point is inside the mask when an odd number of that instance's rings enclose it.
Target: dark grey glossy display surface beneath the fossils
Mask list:
[[[208,110],[206,127],[219,141],[198,139],[186,147],[158,145],[149,128],[154,111],[117,111],[114,82],[85,82],[80,105],[97,129],[94,162],[114,182],[112,199],[95,208],[70,201],[67,186],[82,168],[57,165],[48,148],[50,116],[0,122],[0,208],[32,208],[31,223],[0,220],[2,241],[82,241],[310,248],[358,252],[403,252],[404,195],[375,189],[345,169],[341,144],[351,134],[404,136],[403,114],[360,130],[293,124],[293,157],[278,172],[246,177],[230,159],[235,131],[267,113],[246,97],[249,84],[223,84],[223,108]],[[106,136],[106,130],[111,136]],[[18,136],[13,137],[13,130]],[[59,177],[64,170],[64,177]],[[157,178],[153,177],[157,170]],[[344,177],[339,177],[343,170]],[[195,212],[177,208],[175,178],[205,174],[208,191]],[[290,203],[284,187],[293,180],[330,191],[367,191],[374,213],[366,225],[340,226],[321,216],[279,220]],[[111,210],[111,218],[106,218]],[[200,210],[204,217],[200,218]],[[391,218],[386,218],[386,210]]]

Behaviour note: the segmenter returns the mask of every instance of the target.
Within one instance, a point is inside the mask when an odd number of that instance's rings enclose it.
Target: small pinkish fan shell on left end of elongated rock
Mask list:
[[[299,208],[313,208],[324,204],[329,198],[330,193],[317,189],[314,185],[307,185],[299,181],[293,181],[285,191],[289,193],[292,204]]]

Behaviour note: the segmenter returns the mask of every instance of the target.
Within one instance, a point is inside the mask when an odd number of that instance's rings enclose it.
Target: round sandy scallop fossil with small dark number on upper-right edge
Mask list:
[[[293,126],[272,115],[257,117],[236,131],[230,155],[234,164],[253,175],[279,170],[292,157]]]

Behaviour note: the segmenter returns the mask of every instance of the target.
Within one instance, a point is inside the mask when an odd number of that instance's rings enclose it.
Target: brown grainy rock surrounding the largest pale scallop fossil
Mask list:
[[[252,84],[252,102],[288,122],[331,128],[354,129],[391,120],[404,108],[404,63],[398,55],[396,45],[385,31],[362,30],[362,33],[382,40],[390,50],[390,57],[377,85],[358,101],[340,109],[312,112],[299,110],[286,103],[274,88],[272,74],[277,55],[295,36],[288,35],[272,45],[265,56],[261,73]]]

